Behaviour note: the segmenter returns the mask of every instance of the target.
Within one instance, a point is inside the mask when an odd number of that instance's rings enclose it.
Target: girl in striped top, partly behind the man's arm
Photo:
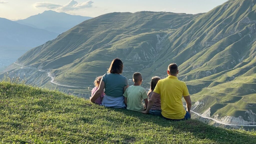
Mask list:
[[[151,83],[150,83],[150,90],[148,91],[148,97],[150,98],[152,96],[152,93],[156,87],[156,84],[158,82],[158,80],[160,80],[160,77],[152,77],[151,79]],[[161,116],[161,99],[160,99],[160,95],[158,95],[158,97],[156,98],[154,105],[151,107],[151,109],[149,110],[149,114],[151,115],[157,115],[157,116]]]

